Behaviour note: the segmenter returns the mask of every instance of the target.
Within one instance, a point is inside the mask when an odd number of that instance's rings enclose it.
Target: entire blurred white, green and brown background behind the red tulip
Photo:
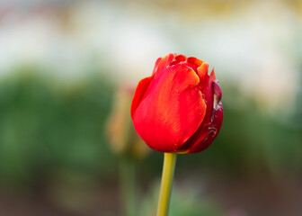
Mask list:
[[[301,0],[0,1],[0,215],[154,215],[129,103],[169,52],[215,67],[225,111],[170,215],[301,215]]]

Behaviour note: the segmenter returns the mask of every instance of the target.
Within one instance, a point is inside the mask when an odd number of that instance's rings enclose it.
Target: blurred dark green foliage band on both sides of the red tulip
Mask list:
[[[100,73],[72,85],[41,74],[35,67],[22,67],[1,80],[1,181],[34,184],[51,173],[68,171],[95,178],[116,175],[112,167],[117,157],[104,134],[116,84]],[[301,127],[265,114],[234,87],[223,89],[225,117],[218,138],[200,154],[180,156],[177,173],[191,172],[193,165],[224,175],[263,168],[272,175],[298,174]],[[138,164],[138,172],[148,170],[141,180],[159,175],[161,166],[162,155],[154,152]]]

